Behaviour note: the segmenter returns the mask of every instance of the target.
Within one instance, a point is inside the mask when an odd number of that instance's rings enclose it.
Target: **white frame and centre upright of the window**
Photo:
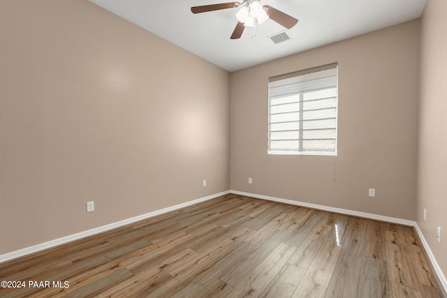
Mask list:
[[[278,78],[278,77],[299,77],[300,75],[305,75],[307,73],[316,73],[318,71],[322,71],[322,68],[327,68],[330,69],[331,66],[334,66],[333,68],[335,68],[336,71],[336,99],[335,99],[335,148],[333,151],[312,151],[312,150],[304,150],[302,148],[302,121],[300,121],[300,126],[301,128],[298,129],[298,133],[300,133],[300,140],[298,140],[298,142],[300,143],[299,148],[297,150],[274,150],[274,149],[270,149],[270,126],[271,126],[271,98],[270,98],[270,80]],[[318,70],[321,69],[321,70]],[[315,71],[313,71],[315,70]],[[284,79],[279,79],[279,80],[284,80]],[[316,67],[312,67],[312,68],[307,68],[304,70],[298,70],[298,71],[294,71],[292,73],[286,73],[284,75],[275,75],[273,77],[269,77],[268,79],[268,154],[273,154],[273,155],[309,155],[309,156],[337,156],[338,154],[338,110],[339,110],[339,64],[338,62],[332,63],[332,64],[325,64],[323,66],[316,66]],[[277,81],[277,80],[275,80]],[[313,89],[312,91],[315,91],[316,89]],[[308,91],[308,92],[312,92],[312,91]],[[302,100],[303,96],[305,93],[300,94],[300,100],[298,101],[298,103],[300,104],[300,110],[298,110],[298,112],[301,114],[300,119],[302,119],[302,113],[305,112],[303,110],[303,103],[304,100]]]

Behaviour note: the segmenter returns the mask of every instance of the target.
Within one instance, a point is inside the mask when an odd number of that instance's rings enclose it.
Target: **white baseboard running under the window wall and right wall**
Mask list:
[[[441,282],[441,285],[444,288],[444,292],[447,292],[447,279],[444,276],[444,274],[442,273],[442,270],[439,267],[436,259],[434,258],[434,255],[433,255],[432,251],[430,250],[430,246],[428,246],[427,241],[425,241],[424,235],[423,235],[422,231],[420,230],[418,223],[416,223],[416,221],[408,221],[406,219],[382,216],[382,215],[377,215],[377,214],[370,214],[370,213],[365,213],[365,212],[353,211],[353,210],[349,210],[349,209],[327,207],[327,206],[318,205],[318,204],[311,204],[311,203],[306,203],[306,202],[298,202],[298,201],[294,201],[294,200],[274,198],[274,197],[269,197],[268,195],[258,195],[256,193],[244,193],[243,191],[230,191],[230,193],[234,193],[235,195],[244,195],[247,197],[257,198],[257,199],[262,199],[262,200],[269,200],[269,201],[273,201],[273,202],[291,204],[291,205],[296,205],[296,206],[300,206],[300,207],[307,207],[307,208],[318,209],[318,210],[323,210],[323,211],[330,211],[330,212],[334,212],[334,213],[338,213],[338,214],[346,214],[346,215],[351,215],[351,216],[368,218],[368,219],[373,219],[376,221],[386,221],[388,223],[397,223],[400,225],[412,226],[416,229],[416,232],[418,233],[420,241],[422,241],[425,251],[427,252],[428,258],[430,258],[430,261],[432,262],[434,271],[436,271],[439,281]]]

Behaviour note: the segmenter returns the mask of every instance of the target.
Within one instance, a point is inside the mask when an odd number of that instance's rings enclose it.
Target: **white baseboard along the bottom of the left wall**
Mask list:
[[[108,231],[108,230],[119,228],[119,227],[122,227],[123,225],[129,225],[130,223],[135,223],[137,221],[142,221],[144,219],[151,218],[151,217],[154,217],[154,216],[158,216],[160,214],[165,214],[165,213],[168,213],[170,211],[175,211],[177,209],[182,209],[184,207],[188,207],[188,206],[191,206],[193,204],[197,204],[197,203],[200,203],[200,202],[205,202],[207,200],[212,200],[214,198],[218,198],[221,195],[226,195],[228,193],[230,193],[230,191],[223,191],[222,193],[216,193],[214,195],[208,195],[207,197],[204,197],[204,198],[199,198],[199,199],[192,200],[192,201],[189,201],[189,202],[185,202],[185,203],[182,203],[182,204],[177,204],[177,205],[172,206],[172,207],[168,207],[168,208],[152,211],[152,212],[149,212],[147,214],[142,214],[140,216],[135,216],[133,218],[125,219],[124,221],[118,221],[117,223],[110,223],[110,225],[103,225],[102,227],[94,228],[94,229],[87,230],[87,231],[84,231],[84,232],[80,232],[80,233],[77,233],[77,234],[72,234],[72,235],[69,235],[69,236],[66,236],[66,237],[62,237],[62,238],[59,238],[59,239],[54,239],[52,241],[47,241],[45,243],[37,244],[37,245],[30,246],[30,247],[27,247],[27,248],[22,248],[22,249],[20,249],[18,251],[13,251],[11,253],[5,253],[3,255],[0,255],[0,263],[1,262],[6,262],[8,260],[13,260],[15,258],[20,258],[20,257],[22,257],[24,255],[29,255],[30,253],[36,253],[38,251],[43,251],[44,249],[47,249],[47,248],[52,248],[54,246],[58,246],[58,245],[61,245],[61,244],[66,244],[66,243],[74,241],[74,240],[78,240],[78,239],[81,239],[81,238],[89,237],[89,236],[92,236],[94,234],[98,234],[98,233],[101,233],[101,232],[105,232],[105,231]]]

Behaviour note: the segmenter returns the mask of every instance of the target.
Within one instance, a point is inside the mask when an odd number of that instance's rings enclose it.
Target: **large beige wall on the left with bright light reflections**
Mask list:
[[[228,191],[225,70],[87,1],[0,36],[0,254]]]

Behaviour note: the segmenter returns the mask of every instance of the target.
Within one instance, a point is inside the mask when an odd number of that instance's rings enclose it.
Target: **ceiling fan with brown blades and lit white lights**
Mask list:
[[[272,6],[261,6],[259,3],[261,0],[244,0],[240,2],[228,2],[228,3],[218,3],[203,6],[193,6],[191,7],[192,13],[207,13],[208,11],[221,10],[226,8],[237,8],[242,6],[242,8],[236,13],[237,25],[233,34],[231,34],[230,39],[237,39],[242,36],[245,27],[254,27],[256,23],[262,24],[269,18],[274,20],[283,27],[291,29],[298,23],[295,17],[291,17],[286,13],[283,13]]]

